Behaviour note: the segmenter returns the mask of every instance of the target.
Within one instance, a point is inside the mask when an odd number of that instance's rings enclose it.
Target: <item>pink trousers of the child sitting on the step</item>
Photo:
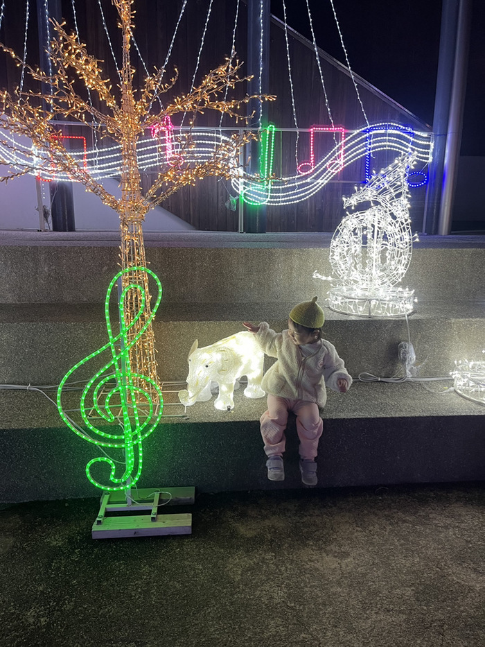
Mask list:
[[[267,411],[259,420],[266,456],[281,456],[285,451],[285,429],[290,411],[297,416],[300,457],[315,458],[318,453],[318,441],[324,429],[317,404],[270,394],[267,396]]]

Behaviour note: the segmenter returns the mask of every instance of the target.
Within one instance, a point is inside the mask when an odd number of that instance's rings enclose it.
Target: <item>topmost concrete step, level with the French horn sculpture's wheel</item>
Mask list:
[[[118,271],[114,234],[14,239],[6,233],[0,232],[0,303],[104,302]],[[146,247],[165,304],[297,303],[326,297],[328,283],[313,273],[330,275],[330,240],[329,234],[197,232],[147,234]],[[485,236],[428,236],[415,243],[402,285],[418,300],[485,300],[484,267]]]

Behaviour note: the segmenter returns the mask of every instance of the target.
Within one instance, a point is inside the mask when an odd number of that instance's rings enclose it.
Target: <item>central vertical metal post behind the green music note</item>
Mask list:
[[[270,0],[248,0],[247,3],[247,73],[253,78],[247,84],[247,94],[269,94],[270,85]],[[249,101],[247,114],[252,114],[252,128],[267,126],[267,102]],[[249,173],[259,173],[261,144],[250,146]],[[266,231],[266,206],[246,205],[247,232]]]

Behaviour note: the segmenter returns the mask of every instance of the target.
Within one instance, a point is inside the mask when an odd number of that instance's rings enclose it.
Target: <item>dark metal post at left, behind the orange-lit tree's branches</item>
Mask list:
[[[49,74],[50,62],[48,57],[48,51],[51,47],[49,42],[49,32],[51,32],[52,40],[53,29],[52,26],[49,27],[48,18],[50,17],[54,18],[58,22],[62,22],[60,0],[37,0],[40,68],[45,71],[46,74]],[[48,94],[51,92],[51,87],[43,83],[42,92],[44,94]],[[48,106],[45,102],[44,110],[48,110]],[[49,182],[49,193],[51,195],[51,218],[53,231],[75,231],[73,187],[71,182]]]

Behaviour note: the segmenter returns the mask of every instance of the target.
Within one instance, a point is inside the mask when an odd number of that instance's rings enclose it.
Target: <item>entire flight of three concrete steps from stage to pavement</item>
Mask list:
[[[107,342],[103,303],[117,271],[114,234],[0,233],[0,381],[56,385],[80,359]],[[236,392],[231,413],[213,401],[184,411],[167,381],[184,380],[186,356],[199,345],[267,320],[281,330],[295,303],[319,295],[330,274],[324,234],[166,234],[146,236],[164,297],[155,320],[166,406],[144,443],[140,487],[195,485],[206,492],[301,487],[294,421],[287,478],[267,481],[258,419],[265,399]],[[485,347],[485,238],[430,236],[414,248],[403,286],[418,303],[409,336],[423,377],[446,377],[457,359],[481,359]],[[116,311],[112,318],[116,320]],[[326,309],[326,338],[353,376],[402,374],[404,319],[377,320]],[[267,365],[269,365],[268,360]],[[87,363],[73,379],[96,372]],[[400,373],[399,373],[400,372]],[[330,393],[319,454],[319,487],[475,481],[485,477],[484,408],[448,382],[364,383]],[[434,391],[434,392],[433,392]],[[55,390],[49,391],[55,399]],[[78,408],[72,392],[72,408]],[[0,500],[89,497],[85,465],[98,448],[65,428],[57,409],[33,390],[0,390],[3,453]],[[118,457],[119,458],[119,457]]]

